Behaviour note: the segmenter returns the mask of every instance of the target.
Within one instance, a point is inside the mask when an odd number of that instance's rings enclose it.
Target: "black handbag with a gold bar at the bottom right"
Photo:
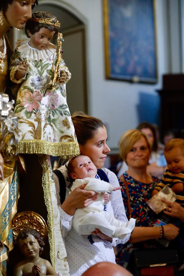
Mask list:
[[[131,270],[134,276],[177,275],[178,252],[175,249],[145,249],[132,252]]]

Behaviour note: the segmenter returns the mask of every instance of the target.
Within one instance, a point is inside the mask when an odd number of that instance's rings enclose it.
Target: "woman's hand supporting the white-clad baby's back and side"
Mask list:
[[[93,191],[83,190],[87,183],[75,188],[65,199],[61,206],[63,211],[70,216],[73,216],[77,208],[85,208],[97,199],[98,193]]]

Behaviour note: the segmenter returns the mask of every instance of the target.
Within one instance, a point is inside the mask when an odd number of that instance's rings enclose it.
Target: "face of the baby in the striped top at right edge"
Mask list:
[[[180,148],[172,148],[168,152],[164,152],[167,167],[170,171],[178,174],[184,171],[184,155]]]

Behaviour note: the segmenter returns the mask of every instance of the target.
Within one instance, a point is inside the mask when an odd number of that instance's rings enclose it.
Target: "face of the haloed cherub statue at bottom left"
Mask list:
[[[23,255],[26,259],[34,259],[39,256],[40,245],[35,237],[29,234],[28,238],[25,240],[19,240],[18,246],[20,247]]]

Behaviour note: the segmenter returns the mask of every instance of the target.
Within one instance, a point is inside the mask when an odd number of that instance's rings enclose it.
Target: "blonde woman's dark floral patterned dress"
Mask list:
[[[123,202],[125,206],[126,214],[128,215],[128,207],[127,207],[127,194],[125,185],[123,182],[123,177],[127,182],[128,191],[130,195],[130,208],[131,208],[131,217],[136,219],[136,226],[142,227],[151,227],[155,224],[157,220],[157,215],[149,208],[146,201],[151,198],[152,191],[155,186],[160,182],[159,178],[152,176],[153,182],[151,183],[142,183],[132,178],[130,175],[125,172],[119,178],[119,184],[122,186],[121,193],[123,197]],[[132,244],[130,240],[126,244],[121,244],[120,250],[117,255],[117,261],[121,259],[122,254],[125,251],[132,252],[133,248],[150,248],[156,247],[157,243],[155,240],[148,240],[141,243]],[[128,259],[127,255],[125,257]]]

